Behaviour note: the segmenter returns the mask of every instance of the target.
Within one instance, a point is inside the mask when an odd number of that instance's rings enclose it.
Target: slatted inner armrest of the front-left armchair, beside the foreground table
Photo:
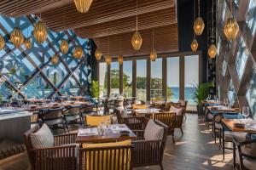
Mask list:
[[[61,144],[74,144],[78,133],[68,133],[55,136],[55,146]]]

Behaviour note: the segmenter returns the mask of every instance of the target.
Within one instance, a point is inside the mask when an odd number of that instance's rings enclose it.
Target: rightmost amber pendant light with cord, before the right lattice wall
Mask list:
[[[230,14],[230,18],[224,24],[224,35],[227,37],[228,41],[235,40],[239,31],[239,26],[232,16],[232,1],[230,1]]]

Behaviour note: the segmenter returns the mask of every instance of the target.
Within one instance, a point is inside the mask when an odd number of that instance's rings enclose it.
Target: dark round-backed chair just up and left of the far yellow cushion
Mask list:
[[[63,111],[63,116],[67,124],[69,123],[77,123],[82,124],[83,117],[80,114],[80,105],[68,105],[67,109]]]

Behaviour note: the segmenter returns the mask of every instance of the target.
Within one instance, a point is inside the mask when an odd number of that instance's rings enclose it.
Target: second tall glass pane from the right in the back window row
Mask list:
[[[167,100],[179,99],[179,57],[167,58]]]

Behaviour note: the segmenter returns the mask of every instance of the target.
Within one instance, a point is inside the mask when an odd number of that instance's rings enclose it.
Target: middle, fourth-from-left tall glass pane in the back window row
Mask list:
[[[136,77],[136,94],[137,99],[147,100],[147,60],[137,60],[137,77]]]

